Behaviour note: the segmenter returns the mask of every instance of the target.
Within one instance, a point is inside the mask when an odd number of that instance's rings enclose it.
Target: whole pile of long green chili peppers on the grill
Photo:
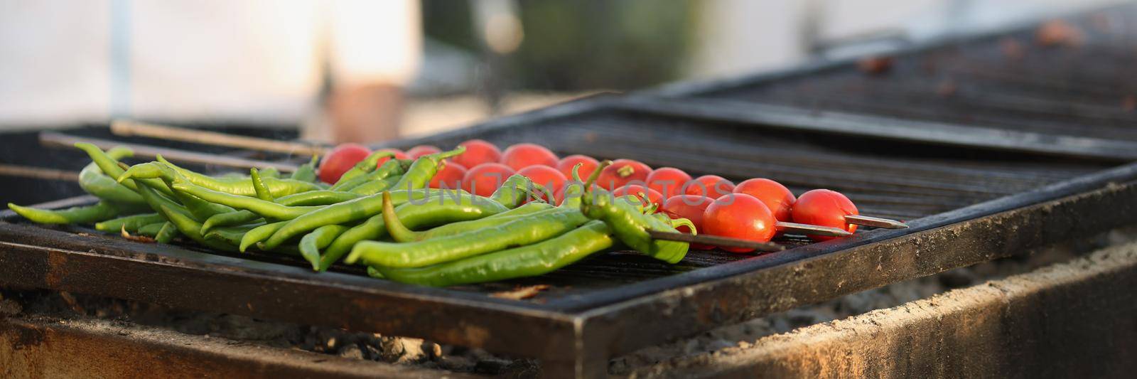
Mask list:
[[[126,148],[75,147],[91,157],[80,184],[98,203],[8,207],[38,223],[93,223],[160,244],[298,255],[319,272],[341,261],[362,263],[375,278],[437,287],[540,275],[615,248],[669,263],[688,249],[647,233],[674,232],[688,221],[655,215],[634,196],[613,198],[592,186],[601,170],[587,181],[574,170],[567,199],[553,206],[542,200],[553,199],[548,189],[521,175],[489,197],[428,188],[463,147],[417,159],[375,153],[332,184],[318,182],[317,157],[289,178],[256,168],[247,176],[210,176],[160,156],[127,166],[119,162],[132,156]]]

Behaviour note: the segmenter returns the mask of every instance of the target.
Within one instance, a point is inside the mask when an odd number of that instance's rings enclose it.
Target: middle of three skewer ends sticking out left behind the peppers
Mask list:
[[[75,142],[88,142],[98,146],[100,149],[103,150],[116,146],[124,146],[130,148],[131,150],[134,150],[135,156],[139,157],[152,158],[160,154],[163,157],[169,158],[169,160],[189,162],[198,164],[213,164],[213,165],[238,167],[238,168],[275,167],[276,170],[284,172],[293,172],[297,168],[297,165],[289,163],[281,163],[281,162],[244,159],[244,158],[227,157],[227,156],[197,153],[197,151],[158,148],[146,145],[123,143],[119,141],[102,140],[97,138],[82,138],[82,137],[74,137],[53,132],[40,133],[40,143],[44,146],[70,148],[75,146]]]

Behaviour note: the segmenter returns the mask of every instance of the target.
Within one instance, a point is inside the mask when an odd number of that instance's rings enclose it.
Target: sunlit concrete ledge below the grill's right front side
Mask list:
[[[1137,371],[1137,242],[633,377],[1086,377]]]

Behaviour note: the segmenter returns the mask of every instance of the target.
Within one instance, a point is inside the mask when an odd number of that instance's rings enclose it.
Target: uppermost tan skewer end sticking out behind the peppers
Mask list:
[[[326,147],[277,141],[265,138],[233,135],[184,127],[156,125],[127,120],[115,120],[110,123],[110,132],[117,135],[142,135],[149,138],[184,141],[202,145],[225,146],[242,149],[274,151],[298,155],[324,155]]]

